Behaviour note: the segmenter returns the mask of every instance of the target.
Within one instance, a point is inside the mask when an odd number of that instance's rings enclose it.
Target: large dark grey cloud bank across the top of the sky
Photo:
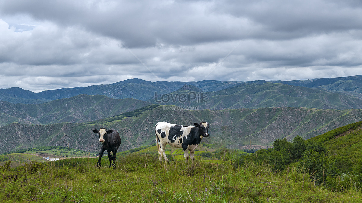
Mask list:
[[[331,1],[7,1],[2,12],[80,25],[129,47],[286,39],[361,29],[361,6]],[[47,9],[44,9],[47,8]]]

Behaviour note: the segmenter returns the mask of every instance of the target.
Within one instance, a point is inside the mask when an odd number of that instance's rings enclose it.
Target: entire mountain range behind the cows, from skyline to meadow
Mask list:
[[[308,139],[361,121],[361,87],[362,75],[249,82],[135,78],[38,93],[0,89],[0,153],[46,145],[97,151],[91,132],[102,127],[117,129],[127,150],[152,144],[159,121],[207,121],[213,136],[205,142],[271,146],[275,139]]]

